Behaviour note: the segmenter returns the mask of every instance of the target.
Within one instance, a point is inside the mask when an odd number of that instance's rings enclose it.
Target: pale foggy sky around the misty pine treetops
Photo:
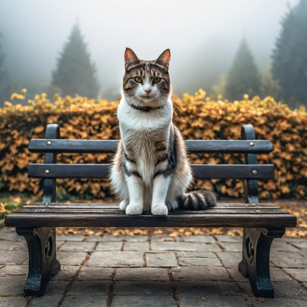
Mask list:
[[[182,95],[217,83],[243,36],[263,68],[287,3],[298,1],[0,0],[1,42],[6,67],[21,87],[50,82],[56,58],[78,20],[103,97],[120,95],[126,46],[143,60],[170,48],[173,90]]]

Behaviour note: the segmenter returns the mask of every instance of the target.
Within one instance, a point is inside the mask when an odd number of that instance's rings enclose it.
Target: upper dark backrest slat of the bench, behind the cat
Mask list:
[[[51,142],[48,145],[47,142]],[[31,152],[60,153],[112,153],[118,140],[71,140],[71,139],[31,139]],[[192,153],[269,153],[273,150],[268,140],[186,140]],[[254,145],[251,146],[250,142]]]

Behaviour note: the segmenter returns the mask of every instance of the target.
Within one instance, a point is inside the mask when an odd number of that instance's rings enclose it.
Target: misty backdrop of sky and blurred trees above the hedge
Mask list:
[[[305,0],[0,0],[0,12],[0,106],[22,88],[115,100],[126,46],[144,60],[170,48],[179,96],[307,103]]]

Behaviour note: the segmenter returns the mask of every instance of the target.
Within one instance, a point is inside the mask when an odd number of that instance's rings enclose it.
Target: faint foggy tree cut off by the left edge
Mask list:
[[[0,35],[1,37],[1,35]],[[0,107],[5,100],[10,99],[10,95],[16,90],[18,80],[12,80],[10,71],[4,68],[5,54],[1,51],[0,44]]]

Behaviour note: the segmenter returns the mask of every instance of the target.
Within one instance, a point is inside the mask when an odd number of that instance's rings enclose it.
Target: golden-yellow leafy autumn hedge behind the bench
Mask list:
[[[25,99],[26,90],[14,93],[13,99]],[[211,100],[203,90],[195,95],[184,94],[183,99],[173,97],[177,103],[175,123],[189,139],[239,139],[241,126],[250,123],[255,127],[256,138],[269,139],[274,150],[259,154],[259,164],[273,163],[275,178],[259,181],[261,198],[296,197],[307,195],[307,114],[305,108],[292,111],[286,104],[277,103],[272,97],[261,100],[258,96],[229,102]],[[27,105],[5,102],[0,108],[0,192],[20,191],[42,194],[39,179],[27,177],[27,165],[43,163],[44,156],[29,153],[30,138],[44,138],[45,126],[60,125],[62,138],[117,139],[119,137],[115,111],[118,101],[97,101],[86,97],[54,96],[50,102],[46,94],[36,95]],[[191,154],[192,163],[242,163],[240,154]],[[61,163],[104,163],[111,154],[58,154]],[[98,179],[58,180],[61,195],[69,192],[82,197],[109,195],[108,182]],[[240,180],[197,180],[193,188],[215,190],[220,194],[239,197],[243,195]]]

